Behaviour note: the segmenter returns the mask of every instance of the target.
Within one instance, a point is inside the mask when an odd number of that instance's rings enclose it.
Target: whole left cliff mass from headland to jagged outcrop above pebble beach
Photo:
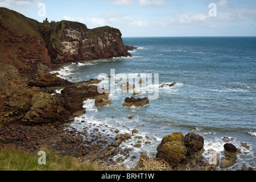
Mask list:
[[[90,30],[65,20],[39,23],[0,7],[0,127],[65,122],[84,113],[85,98],[102,95],[97,86],[75,85],[49,72],[69,61],[131,56],[121,36],[117,28]],[[52,96],[49,89],[56,86],[64,91]]]

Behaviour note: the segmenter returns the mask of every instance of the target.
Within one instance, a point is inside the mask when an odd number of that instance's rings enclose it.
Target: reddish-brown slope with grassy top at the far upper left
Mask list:
[[[39,63],[51,67],[36,20],[0,7],[0,34],[0,63],[14,65],[27,78],[34,76]]]

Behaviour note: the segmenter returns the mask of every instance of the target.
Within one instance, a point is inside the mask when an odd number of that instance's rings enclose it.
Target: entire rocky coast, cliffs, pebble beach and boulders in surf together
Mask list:
[[[93,99],[96,106],[108,105],[109,94],[98,93],[99,80],[69,82],[51,74],[53,69],[73,60],[131,56],[128,50],[136,47],[125,46],[118,29],[105,26],[90,30],[85,24],[64,20],[46,19],[39,23],[0,7],[0,30],[0,147],[13,146],[34,154],[47,147],[60,155],[115,164],[122,160],[114,160],[115,155],[130,155],[130,148],[120,147],[122,142],[135,138],[138,143],[133,147],[142,146],[136,129],[120,133],[112,127],[105,125],[102,129],[101,125],[82,120],[84,127],[77,131],[72,122],[86,114],[84,101]],[[134,85],[123,84],[122,91],[130,88],[134,89]],[[148,102],[148,98],[128,97],[123,106],[140,107]],[[216,166],[201,160],[202,138],[194,133],[168,135],[156,148],[154,160],[164,160],[172,169],[214,170]],[[237,148],[229,144],[224,148],[228,152],[221,165],[232,166]],[[139,155],[133,158],[138,159]],[[138,165],[143,165],[143,158],[149,157],[142,154]]]

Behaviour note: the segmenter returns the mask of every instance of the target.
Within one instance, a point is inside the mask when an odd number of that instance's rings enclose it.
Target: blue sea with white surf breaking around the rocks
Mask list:
[[[94,100],[86,100],[86,114],[75,118],[72,127],[82,131],[86,123],[81,120],[86,120],[113,137],[113,130],[131,134],[136,129],[135,135],[142,138],[132,137],[120,146],[129,148],[130,154],[114,157],[127,167],[135,166],[142,153],[155,157],[162,138],[174,132],[203,136],[204,160],[220,154],[221,162],[225,143],[240,148],[233,167],[219,165],[217,170],[237,170],[242,164],[256,167],[256,37],[148,37],[123,42],[137,47],[129,51],[132,57],[74,60],[58,71],[71,82],[101,78],[100,86],[110,92],[108,106],[95,107]],[[144,82],[139,84],[138,79]],[[118,82],[134,84],[135,90],[123,93]],[[135,98],[151,97],[149,103],[123,106],[136,89],[140,94]],[[138,140],[141,147],[134,147]]]

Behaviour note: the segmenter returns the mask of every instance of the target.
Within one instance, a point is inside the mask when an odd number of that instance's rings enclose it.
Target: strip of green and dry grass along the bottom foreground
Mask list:
[[[46,164],[38,163],[39,151],[46,152]],[[71,156],[60,156],[53,150],[41,148],[36,154],[13,147],[0,148],[0,171],[170,171],[166,163],[154,159],[140,159],[143,165],[128,169],[125,166],[108,166]]]

